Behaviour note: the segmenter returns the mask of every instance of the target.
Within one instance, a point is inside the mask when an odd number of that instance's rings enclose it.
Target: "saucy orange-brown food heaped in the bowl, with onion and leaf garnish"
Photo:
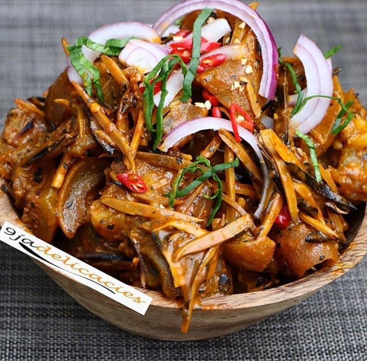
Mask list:
[[[67,69],[16,99],[0,174],[38,237],[183,301],[332,266],[366,201],[366,110],[301,35],[279,57],[239,1],[187,1],[153,25],[63,39]],[[233,15],[235,14],[235,15]],[[178,20],[178,21],[177,21]]]

